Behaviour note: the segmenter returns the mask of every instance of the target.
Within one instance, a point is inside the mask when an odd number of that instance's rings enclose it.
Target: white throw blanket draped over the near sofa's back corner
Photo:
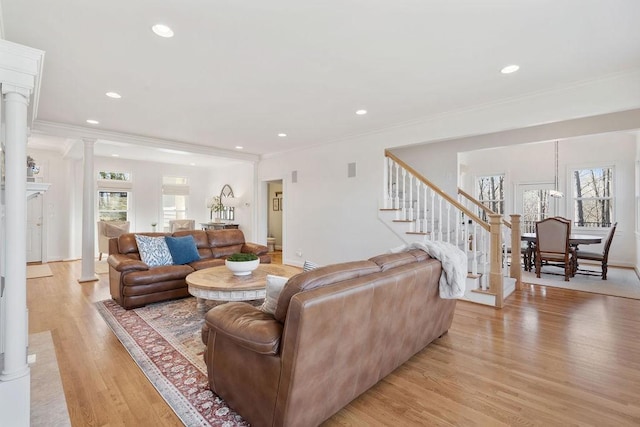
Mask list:
[[[442,263],[439,282],[440,298],[455,299],[464,295],[467,279],[467,256],[460,248],[447,242],[425,240],[422,243],[400,246],[389,252],[395,254],[411,249],[422,249]]]

